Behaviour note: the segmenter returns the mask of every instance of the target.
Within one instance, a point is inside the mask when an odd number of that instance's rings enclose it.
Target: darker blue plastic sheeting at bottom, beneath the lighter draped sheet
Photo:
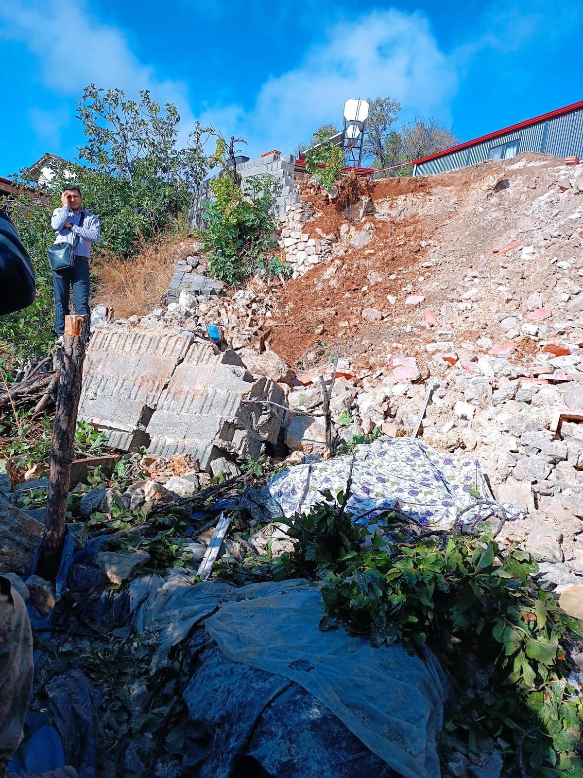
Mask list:
[[[199,626],[185,643],[180,778],[398,778],[319,699],[231,661]]]

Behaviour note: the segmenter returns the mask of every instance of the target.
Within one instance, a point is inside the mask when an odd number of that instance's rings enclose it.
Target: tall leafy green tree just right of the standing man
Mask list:
[[[79,158],[88,166],[75,170],[84,205],[99,215],[102,247],[133,254],[138,235],[152,238],[190,205],[208,172],[203,145],[211,128],[197,122],[190,145],[179,148],[180,114],[172,103],[162,110],[148,90],[137,102],[93,84],[79,100],[78,117],[87,139]]]

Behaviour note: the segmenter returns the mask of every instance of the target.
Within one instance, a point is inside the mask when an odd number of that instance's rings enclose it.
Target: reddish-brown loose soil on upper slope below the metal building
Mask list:
[[[550,296],[556,286],[553,257],[574,261],[576,250],[581,264],[575,227],[583,198],[569,181],[578,174],[556,157],[524,154],[435,176],[347,177],[333,202],[305,184],[302,195],[316,217],[303,232],[333,235],[336,255],[281,289],[271,349],[296,370],[319,363],[337,342],[344,356],[358,355],[372,367],[386,363],[399,345],[427,357],[424,344],[439,329],[424,323],[427,309],[440,321],[441,339],[473,343],[485,330],[504,339],[495,331],[500,319],[525,314],[532,291]],[[354,225],[347,213],[359,198],[371,198],[374,213]],[[371,240],[351,247],[361,230],[370,230]],[[520,261],[521,248],[493,253],[517,239],[534,247],[528,261]],[[410,295],[424,300],[407,305]],[[467,310],[457,307],[463,301]],[[382,321],[365,321],[366,308],[379,310]],[[536,352],[529,338],[515,345],[516,356]]]

